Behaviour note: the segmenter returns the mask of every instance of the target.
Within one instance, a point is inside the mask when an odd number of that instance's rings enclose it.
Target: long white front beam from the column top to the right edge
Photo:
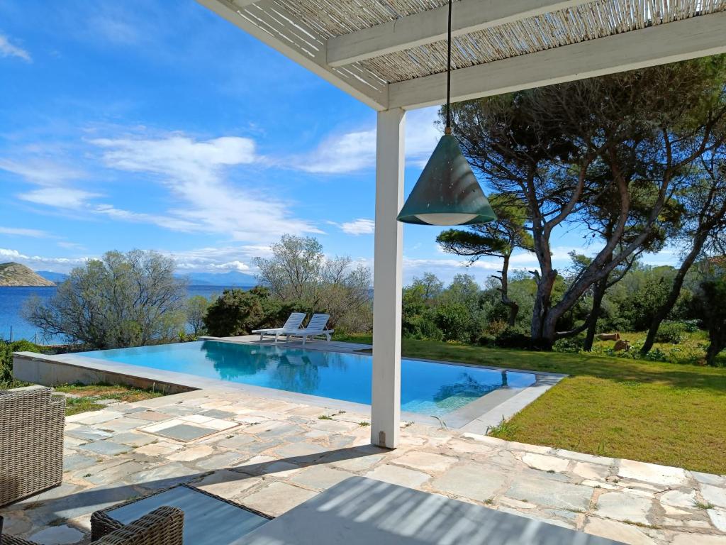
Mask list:
[[[726,53],[726,12],[584,41],[452,72],[452,101],[593,78]],[[423,108],[446,100],[446,73],[388,86],[389,108]]]

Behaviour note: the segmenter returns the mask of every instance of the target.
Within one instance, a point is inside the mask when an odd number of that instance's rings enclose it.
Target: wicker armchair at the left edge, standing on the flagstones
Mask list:
[[[64,424],[50,388],[0,390],[0,506],[60,485]]]

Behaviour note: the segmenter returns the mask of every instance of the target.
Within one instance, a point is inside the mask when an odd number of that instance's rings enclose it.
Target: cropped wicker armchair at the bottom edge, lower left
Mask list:
[[[95,545],[183,545],[184,512],[159,507],[136,522],[94,541]],[[1,536],[0,545],[36,545],[25,539]]]

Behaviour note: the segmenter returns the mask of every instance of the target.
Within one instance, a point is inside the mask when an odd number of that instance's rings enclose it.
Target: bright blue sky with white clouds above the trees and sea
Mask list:
[[[406,193],[435,120],[407,114]],[[141,248],[254,273],[294,233],[372,264],[375,113],[193,0],[4,0],[0,128],[0,262],[65,272]],[[462,269],[437,233],[405,227],[404,280],[497,269]],[[559,233],[555,259],[582,243]]]

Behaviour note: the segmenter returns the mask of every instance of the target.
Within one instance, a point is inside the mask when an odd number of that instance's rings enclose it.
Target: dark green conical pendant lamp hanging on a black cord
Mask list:
[[[399,213],[417,225],[473,225],[497,219],[451,129],[452,0],[449,0],[446,129]]]

